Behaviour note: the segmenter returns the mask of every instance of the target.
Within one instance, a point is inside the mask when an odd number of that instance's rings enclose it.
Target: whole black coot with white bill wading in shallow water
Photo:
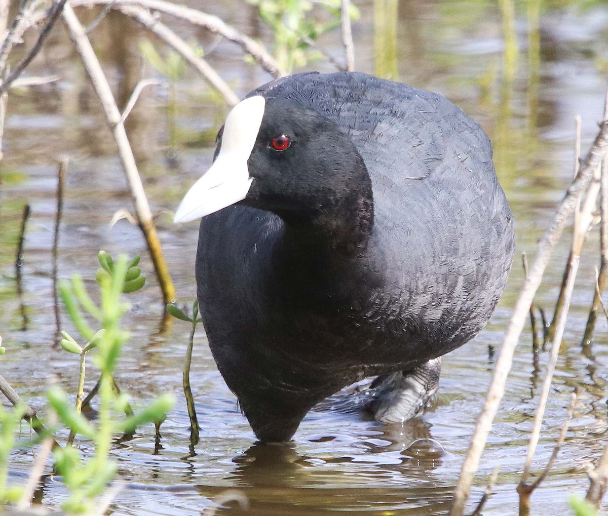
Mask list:
[[[290,439],[368,376],[376,419],[415,415],[513,260],[483,129],[440,95],[361,73],[250,92],[175,221],[199,217],[209,345],[260,441]]]

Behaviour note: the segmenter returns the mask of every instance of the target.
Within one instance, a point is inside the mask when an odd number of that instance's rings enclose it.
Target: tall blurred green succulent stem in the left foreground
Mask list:
[[[69,500],[64,503],[64,510],[71,514],[86,514],[92,511],[95,500],[106,489],[108,483],[116,474],[116,463],[109,459],[112,435],[115,432],[133,432],[134,429],[146,422],[157,421],[165,417],[173,405],[173,397],[161,396],[148,405],[140,413],[117,419],[116,414],[123,411],[128,399],[124,394],[114,390],[112,374],[116,368],[122,346],[129,338],[128,332],[120,327],[120,321],[128,309],[128,304],[122,301],[122,294],[139,290],[145,283],[145,277],[136,266],[139,256],[129,261],[126,256],[120,256],[114,263],[108,253],[100,251],[98,260],[101,269],[97,271],[97,283],[100,286],[100,304],[95,304],[85,289],[82,278],[75,275],[71,281],[60,284],[60,293],[67,313],[78,332],[88,341],[84,346],[62,332],[61,346],[69,353],[80,356],[80,379],[76,407],[72,407],[67,395],[58,387],[47,391],[50,407],[57,413],[59,421],[71,430],[69,442],[74,435],[85,436],[95,445],[95,453],[91,459],[83,460],[80,452],[66,445],[64,449],[55,449],[57,470],[63,476],[63,481],[70,491]],[[83,310],[89,317],[97,320],[102,326],[94,332],[83,315]],[[101,371],[99,384],[99,410],[97,422],[87,421],[80,413],[82,391],[85,379],[85,356],[95,350],[94,362]]]

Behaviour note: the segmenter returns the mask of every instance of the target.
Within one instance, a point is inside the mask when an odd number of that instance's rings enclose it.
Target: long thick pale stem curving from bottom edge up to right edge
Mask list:
[[[586,190],[587,185],[592,180],[593,173],[599,163],[606,155],[608,150],[608,122],[604,121],[599,126],[599,133],[591,146],[589,154],[581,165],[578,176],[568,188],[564,199],[559,204],[556,215],[553,219],[553,224],[547,230],[541,242],[539,249],[534,259],[534,263],[530,269],[530,276],[525,281],[519,297],[513,309],[513,315],[509,322],[508,328],[503,338],[500,354],[494,368],[494,376],[488,389],[486,400],[483,404],[482,411],[477,418],[475,432],[471,438],[471,445],[467,452],[465,461],[460,472],[458,484],[454,490],[454,501],[450,512],[451,516],[461,516],[465,512],[466,501],[469,498],[469,491],[473,476],[477,471],[479,459],[482,456],[483,449],[488,439],[488,434],[492,425],[492,420],[500,400],[505,393],[506,377],[511,370],[513,363],[513,353],[517,346],[519,335],[522,332],[523,325],[530,309],[530,304],[534,299],[534,294],[541,284],[542,275],[545,267],[553,254],[553,249],[558,243],[559,237],[568,221],[568,218],[574,212],[576,199],[581,193]]]

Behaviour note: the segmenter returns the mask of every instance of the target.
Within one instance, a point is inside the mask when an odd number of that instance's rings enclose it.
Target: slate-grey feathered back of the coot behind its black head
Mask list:
[[[260,94],[322,113],[354,142],[371,177],[374,242],[399,317],[437,334],[443,353],[476,334],[514,249],[483,129],[440,95],[366,74],[299,74],[250,95]]]

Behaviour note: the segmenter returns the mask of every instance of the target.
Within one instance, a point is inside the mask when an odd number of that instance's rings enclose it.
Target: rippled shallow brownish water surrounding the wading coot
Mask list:
[[[497,173],[513,208],[517,251],[527,252],[532,260],[536,241],[572,176],[573,117],[581,114],[582,146],[587,149],[603,111],[608,9],[598,5],[578,10],[564,7],[565,2],[545,6],[540,17],[540,53],[536,54],[536,40],[528,38],[526,4],[517,2],[514,29],[520,52],[515,63],[503,67],[502,20],[494,2],[401,1],[398,18],[388,16],[382,21],[396,21],[395,30],[385,27],[382,35],[387,36],[382,38],[378,34],[375,38],[371,2],[356,3],[362,15],[353,27],[359,70],[374,72],[375,55],[384,55],[389,61],[394,55],[394,61],[378,63],[379,69],[387,74],[396,71],[401,81],[445,95],[482,123],[492,139]],[[255,20],[253,8],[243,7],[240,1],[219,4],[199,0],[189,5],[220,15],[271,45],[268,30]],[[85,21],[94,18],[94,13],[86,10],[78,15]],[[257,67],[244,63],[238,47],[181,22],[173,27],[199,38],[210,64],[231,81],[239,95],[269,80]],[[395,41],[390,38],[392,33]],[[112,15],[91,37],[114,92],[125,105],[139,75],[138,42],[149,36],[119,15]],[[337,34],[324,36],[320,43],[336,57],[342,55]],[[395,44],[396,52],[377,52],[375,44]],[[325,61],[309,68],[331,71]],[[291,444],[254,444],[254,435],[219,376],[200,331],[192,386],[201,442],[192,453],[181,392],[189,328],[187,323],[176,321],[170,331],[160,331],[161,297],[142,236],[124,220],[108,227],[117,210],[132,209],[130,194],[97,98],[61,27],[54,31],[46,52],[36,59],[30,73],[57,74],[61,79],[12,92],[9,100],[5,159],[0,165],[0,334],[7,348],[0,362],[1,374],[36,408],[44,405],[50,376],[56,376],[69,390],[77,384],[74,357],[54,347],[50,261],[55,162],[67,155],[71,161],[60,233],[59,276],[69,278],[78,272],[93,287],[99,249],[143,256],[141,266],[148,284],[134,297],[125,317],[132,336],[116,377],[136,407],[167,391],[178,399],[162,425],[159,442],[155,442],[153,427],[144,427],[112,450],[119,462],[119,480],[125,484],[114,498],[112,514],[201,514],[229,488],[246,495],[249,512],[229,502],[218,514],[446,514],[491,377],[488,346],[500,345],[522,284],[519,259],[486,329],[444,358],[435,404],[423,418],[402,427],[371,421],[357,410],[353,399],[362,401],[361,394],[351,389],[311,411]],[[147,75],[154,72],[148,69]],[[195,297],[198,225],[173,225],[165,212],[176,208],[189,185],[209,166],[210,140],[226,108],[212,101],[207,86],[189,70],[176,84],[175,95],[178,104],[170,111],[166,107],[170,88],[147,89],[127,125],[148,199],[159,215],[157,229],[179,300],[191,303]],[[26,202],[32,206],[32,216],[26,232],[23,294],[19,299],[13,263]],[[596,233],[594,230],[589,235],[582,258],[534,470],[541,470],[548,461],[575,387],[579,400],[562,452],[533,495],[532,511],[538,515],[567,514],[567,495],[586,492],[585,469],[606,445],[608,339],[604,318],[599,318],[592,353],[582,354],[579,346],[592,297],[593,267],[599,261]],[[561,282],[568,238],[569,233],[537,295],[537,302],[548,311]],[[65,315],[62,320],[63,328],[71,329]],[[534,371],[530,343],[527,328],[475,480],[471,500],[478,500],[487,476],[494,466],[500,466],[496,494],[484,510],[486,515],[517,511],[515,486],[523,469],[542,383],[542,373]],[[542,371],[546,352],[541,353],[540,361]],[[87,390],[95,380],[91,366]],[[86,442],[80,447],[90,451]],[[21,481],[31,463],[31,451],[15,453],[12,481]],[[60,503],[64,496],[61,482],[54,476],[45,476],[36,494],[46,504]]]

